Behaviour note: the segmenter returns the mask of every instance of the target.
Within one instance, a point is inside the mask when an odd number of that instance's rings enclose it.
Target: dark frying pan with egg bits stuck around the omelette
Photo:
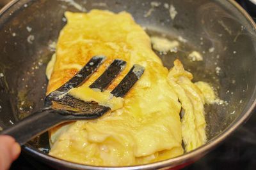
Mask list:
[[[170,17],[171,4],[177,11],[175,18]],[[0,11],[1,128],[42,107],[47,86],[45,66],[54,53],[53,42],[65,25],[63,13],[93,8],[128,11],[150,36],[181,39],[177,53],[156,52],[164,66],[170,68],[173,60],[180,59],[194,74],[193,81],[211,83],[225,101],[205,106],[208,141],[204,146],[174,159],[129,169],[174,168],[200,159],[250,116],[256,105],[256,26],[236,2],[20,0]],[[150,9],[153,10],[149,12]],[[189,60],[187,56],[193,50],[202,53],[204,60]],[[56,159],[47,155],[47,140],[47,134],[38,136],[23,146],[23,151],[60,169],[127,168],[86,166]]]

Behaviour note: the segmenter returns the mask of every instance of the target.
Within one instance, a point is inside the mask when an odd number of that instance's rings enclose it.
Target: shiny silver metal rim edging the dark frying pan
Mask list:
[[[19,2],[20,0],[12,0],[10,3],[6,4],[1,10],[0,10],[0,17],[3,15],[4,12],[8,11],[12,6]],[[256,24],[253,21],[252,17],[239,5],[236,3],[236,1],[233,0],[226,0],[228,3],[232,4],[234,8],[239,10],[241,14],[246,18],[248,21],[248,24],[250,24],[253,27],[253,31],[256,33]],[[230,134],[232,134],[241,124],[243,124],[249,117],[252,115],[253,111],[255,111],[256,108],[256,85],[253,90],[253,94],[250,98],[250,101],[246,104],[248,107],[247,110],[246,108],[244,110],[245,113],[242,115],[239,119],[237,118],[237,122],[233,122],[230,127],[227,127],[225,131],[223,131],[222,134],[214,137],[209,143],[206,143],[203,146],[200,146],[199,148],[196,148],[196,150],[193,150],[192,152],[186,153],[184,155],[180,155],[179,157],[175,157],[172,159],[168,160],[163,160],[161,162],[154,162],[151,164],[143,164],[143,165],[138,165],[138,166],[123,166],[123,167],[98,167],[98,166],[87,166],[84,164],[77,164],[74,162],[68,162],[66,160],[61,160],[52,157],[51,155],[48,155],[47,153],[40,152],[33,146],[26,144],[22,146],[22,150],[24,152],[28,153],[29,155],[33,155],[36,158],[42,159],[42,162],[51,162],[54,166],[59,166],[59,167],[67,167],[67,168],[72,168],[72,169],[118,169],[118,170],[123,170],[123,169],[157,169],[157,168],[163,168],[163,167],[177,167],[176,164],[179,163],[186,163],[186,162],[193,162],[193,160],[199,159],[200,157],[204,156],[207,152],[215,148],[217,145],[219,145],[221,142],[224,141]]]

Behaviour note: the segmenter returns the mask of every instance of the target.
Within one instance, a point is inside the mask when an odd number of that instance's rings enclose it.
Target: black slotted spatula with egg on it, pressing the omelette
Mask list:
[[[88,80],[104,62],[104,59],[105,57],[102,56],[92,57],[67,83],[45,97],[45,108],[29,115],[12,127],[4,129],[0,134],[13,136],[20,145],[24,145],[35,136],[63,122],[99,118],[104,113],[111,111],[109,107],[101,106],[95,102],[84,102],[67,94],[68,90],[79,87]],[[106,71],[90,85],[90,88],[104,91],[124,69],[125,65],[124,60],[114,60]],[[143,72],[144,67],[135,64],[111,94],[116,97],[124,97]]]

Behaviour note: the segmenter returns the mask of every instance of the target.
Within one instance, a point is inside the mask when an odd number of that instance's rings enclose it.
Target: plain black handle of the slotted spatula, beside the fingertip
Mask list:
[[[51,129],[55,125],[61,124],[63,116],[52,113],[49,110],[38,111],[20,120],[11,127],[4,129],[0,134],[10,135],[16,139],[17,143],[24,145],[30,139]]]

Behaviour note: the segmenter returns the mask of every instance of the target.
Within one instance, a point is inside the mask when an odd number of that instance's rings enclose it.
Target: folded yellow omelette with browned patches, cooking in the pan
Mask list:
[[[93,56],[104,55],[106,61],[97,72],[68,93],[104,103],[111,112],[51,129],[50,155],[93,166],[132,166],[177,157],[206,142],[204,104],[214,101],[214,92],[205,82],[193,83],[193,75],[179,60],[170,70],[164,67],[149,36],[129,13],[92,10],[66,12],[65,17],[67,25],[47,66],[47,94],[72,78]],[[127,62],[124,71],[106,92],[90,89],[114,59]],[[145,67],[140,80],[124,98],[110,96],[134,64]]]

